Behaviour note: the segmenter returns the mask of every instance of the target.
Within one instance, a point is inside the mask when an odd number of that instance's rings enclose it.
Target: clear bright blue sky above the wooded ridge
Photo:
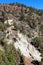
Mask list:
[[[43,9],[43,0],[0,0],[0,3],[18,2],[37,9]]]

